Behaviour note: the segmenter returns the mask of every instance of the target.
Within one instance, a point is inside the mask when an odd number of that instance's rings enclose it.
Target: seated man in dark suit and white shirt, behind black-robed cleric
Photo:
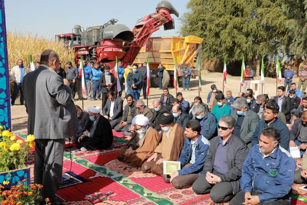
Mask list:
[[[111,128],[114,129],[114,127],[122,120],[122,104],[124,101],[122,98],[117,97],[113,90],[109,91],[107,96],[108,99],[103,107],[102,113],[103,116],[109,120]]]

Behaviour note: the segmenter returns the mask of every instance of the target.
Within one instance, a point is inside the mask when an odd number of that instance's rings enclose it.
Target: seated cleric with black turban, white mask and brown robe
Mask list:
[[[169,113],[160,113],[157,116],[160,122],[161,133],[159,135],[157,147],[150,158],[142,164],[143,173],[163,176],[163,161],[177,161],[179,159],[185,141],[184,129],[174,123],[174,116]]]

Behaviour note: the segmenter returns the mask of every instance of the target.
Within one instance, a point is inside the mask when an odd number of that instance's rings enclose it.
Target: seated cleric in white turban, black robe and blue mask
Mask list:
[[[76,146],[81,148],[82,152],[109,148],[113,142],[109,121],[99,114],[99,107],[90,106],[87,110],[91,121],[86,125],[83,135],[78,138]]]

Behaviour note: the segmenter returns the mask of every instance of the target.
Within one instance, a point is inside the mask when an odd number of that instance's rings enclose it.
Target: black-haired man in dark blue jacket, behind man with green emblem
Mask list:
[[[266,102],[266,109],[264,110],[264,120],[260,120],[260,122],[257,124],[255,132],[251,138],[251,146],[259,143],[259,137],[263,128],[274,127],[280,132],[279,146],[285,150],[288,150],[290,132],[286,124],[277,118],[278,112],[279,106],[277,102],[275,102],[273,99],[268,100]]]

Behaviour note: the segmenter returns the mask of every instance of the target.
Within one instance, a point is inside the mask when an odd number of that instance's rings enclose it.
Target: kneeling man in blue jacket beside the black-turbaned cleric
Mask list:
[[[198,176],[204,174],[203,166],[210,142],[200,135],[200,130],[197,120],[187,122],[185,144],[178,160],[182,169],[171,175],[163,175],[164,181],[172,183],[176,189],[191,187]]]

